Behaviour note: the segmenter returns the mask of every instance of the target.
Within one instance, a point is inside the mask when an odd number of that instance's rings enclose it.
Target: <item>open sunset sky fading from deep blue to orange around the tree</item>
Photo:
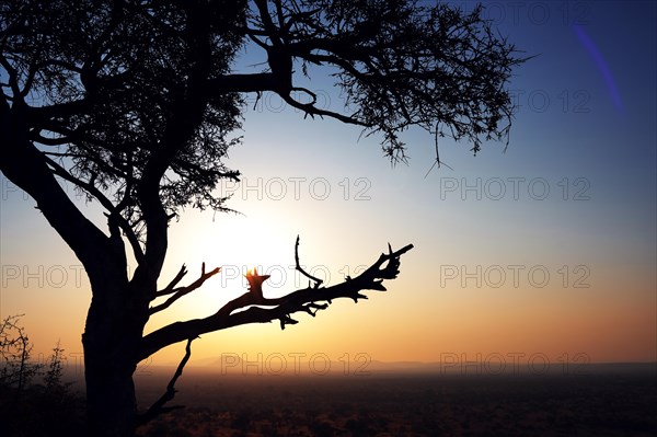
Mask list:
[[[148,329],[214,313],[244,292],[241,274],[253,266],[272,274],[269,296],[304,286],[290,267],[300,234],[302,264],[328,284],[371,264],[388,242],[415,249],[389,292],[335,301],[283,332],[272,323],[206,334],[193,360],[657,360],[656,5],[489,2],[486,13],[539,55],[510,83],[518,111],[506,152],[492,142],[473,158],[468,143],[441,140],[452,170],[426,175],[434,145],[422,131],[405,137],[410,164],[391,168],[378,138],[303,119],[274,95],[250,96],[243,145],[228,161],[243,181],[218,187],[241,215],[186,211],[171,228],[161,280],[183,263],[189,281],[201,262],[223,272]],[[310,85],[327,108],[343,106],[326,78]],[[0,317],[25,314],[36,354],[60,338],[79,359],[90,301],[80,263],[4,176],[0,205]],[[153,363],[177,361],[182,347]]]

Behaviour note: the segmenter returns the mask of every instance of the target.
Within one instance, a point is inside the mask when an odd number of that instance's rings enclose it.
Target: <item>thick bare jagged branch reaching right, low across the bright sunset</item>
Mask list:
[[[411,249],[413,249],[413,244],[393,252],[389,245],[389,253],[381,254],[362,274],[355,278],[348,277],[344,283],[335,286],[308,287],[275,299],[267,299],[258,297],[253,292],[246,292],[228,302],[210,317],[175,322],[146,335],[142,338],[140,357],[141,359],[147,358],[161,348],[186,338],[247,323],[266,323],[279,320],[280,326],[285,329],[288,324],[297,323],[291,318],[291,314],[295,312],[306,312],[314,315],[316,311],[326,309],[334,299],[349,298],[355,302],[358,302],[358,299],[367,299],[367,296],[360,291],[385,291],[383,280],[396,278],[400,267],[400,256]],[[260,308],[261,306],[272,308]]]

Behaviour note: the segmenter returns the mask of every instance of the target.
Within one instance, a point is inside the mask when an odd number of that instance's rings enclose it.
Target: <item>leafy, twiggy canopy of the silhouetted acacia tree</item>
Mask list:
[[[239,175],[221,159],[239,141],[247,92],[381,134],[393,160],[405,159],[400,133],[412,126],[466,139],[474,152],[503,138],[514,46],[480,8],[424,4],[7,1],[3,105],[21,114],[51,172],[141,237],[146,185],[159,184],[168,214],[223,207],[212,188]],[[262,71],[233,71],[240,50],[255,57],[256,46]],[[334,68],[351,112],[319,107],[296,85],[314,66]]]

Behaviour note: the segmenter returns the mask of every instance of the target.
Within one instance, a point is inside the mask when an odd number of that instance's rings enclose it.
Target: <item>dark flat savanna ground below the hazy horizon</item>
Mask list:
[[[153,369],[137,377],[140,404],[161,394],[168,375]],[[186,407],[155,418],[139,436],[657,435],[655,365],[632,371],[499,376],[258,376],[192,368],[177,388],[173,404]],[[79,398],[39,393],[38,387],[25,391],[13,410],[11,396],[3,393],[3,432],[82,432]]]

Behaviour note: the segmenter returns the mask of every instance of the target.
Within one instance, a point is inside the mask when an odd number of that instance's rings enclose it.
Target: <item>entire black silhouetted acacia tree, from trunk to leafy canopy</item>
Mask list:
[[[212,188],[240,175],[222,158],[239,141],[246,93],[276,93],[307,116],[361,126],[380,135],[393,161],[405,160],[399,134],[413,126],[465,139],[476,152],[507,135],[505,84],[522,61],[480,8],[399,0],[0,0],[0,170],[34,198],[91,283],[82,343],[94,436],[130,435],[139,423],[132,373],[140,360],[187,342],[153,416],[166,410],[199,334],[272,320],[285,327],[297,323],[295,312],[314,315],[333,299],[384,290],[412,248],[391,249],[343,284],[322,287],[307,275],[313,286],[284,298],[247,292],[214,315],[143,335],[153,313],[219,272],[204,265],[198,279],[178,286],[183,266],[157,287],[170,221],[188,205],[226,209]],[[262,70],[234,70],[244,48],[260,50]],[[300,76],[325,74],[316,66],[332,68],[344,112],[320,107],[298,85]],[[105,230],[58,180],[104,208]]]

